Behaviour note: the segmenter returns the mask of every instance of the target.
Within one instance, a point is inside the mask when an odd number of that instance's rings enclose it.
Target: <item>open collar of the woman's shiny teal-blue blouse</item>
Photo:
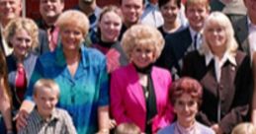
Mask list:
[[[89,63],[88,60],[86,59],[86,57],[88,57],[88,49],[86,47],[84,47],[84,44],[80,44],[80,49],[79,52],[81,53],[81,63],[83,65],[83,67],[87,67]],[[64,52],[63,52],[63,48],[62,48],[62,44],[60,44],[60,46],[56,47],[56,49],[54,50],[55,52],[55,59],[56,59],[56,65],[60,66],[60,67],[65,67],[66,66],[66,60],[65,60],[65,56],[64,56]]]

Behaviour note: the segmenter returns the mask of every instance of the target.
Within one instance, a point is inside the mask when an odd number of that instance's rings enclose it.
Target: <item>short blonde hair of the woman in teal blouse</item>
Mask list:
[[[66,26],[78,27],[83,33],[83,36],[86,36],[90,29],[87,16],[77,10],[67,10],[60,14],[56,21],[56,27],[63,30]]]

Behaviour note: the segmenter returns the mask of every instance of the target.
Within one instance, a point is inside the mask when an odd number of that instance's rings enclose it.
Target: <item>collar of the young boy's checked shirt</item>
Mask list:
[[[33,115],[34,118],[36,118],[35,119],[36,124],[40,124],[40,123],[43,123],[43,122],[51,122],[51,121],[54,121],[54,120],[58,120],[60,118],[60,116],[57,113],[56,108],[53,109],[51,117],[48,121],[43,119],[43,117],[40,115],[37,107],[35,107],[35,109],[33,110],[32,115]]]

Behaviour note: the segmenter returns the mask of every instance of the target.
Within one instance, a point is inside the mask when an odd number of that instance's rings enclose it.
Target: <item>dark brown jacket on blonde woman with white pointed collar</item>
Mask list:
[[[204,88],[198,120],[209,126],[218,123],[225,133],[230,133],[237,123],[248,119],[249,103],[252,98],[249,57],[237,51],[235,60],[236,66],[229,61],[224,63],[220,82],[217,83],[214,61],[207,66],[205,56],[193,51],[185,57],[182,73],[183,76],[197,79]],[[220,120],[217,120],[219,112]]]

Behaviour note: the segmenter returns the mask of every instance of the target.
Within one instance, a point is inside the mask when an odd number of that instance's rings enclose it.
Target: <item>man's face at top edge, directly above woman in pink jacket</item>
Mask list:
[[[122,0],[121,10],[126,25],[138,23],[143,10],[142,0]]]

